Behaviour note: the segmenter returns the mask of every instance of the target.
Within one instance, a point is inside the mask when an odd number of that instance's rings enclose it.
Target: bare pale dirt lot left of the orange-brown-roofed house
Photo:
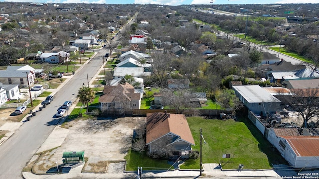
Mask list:
[[[69,133],[62,145],[44,152],[32,168],[37,174],[62,164],[66,151],[84,151],[88,159],[82,172],[105,173],[110,163],[123,162],[131,148],[133,129],[146,122],[146,117],[124,117],[117,119],[87,119],[71,121]]]

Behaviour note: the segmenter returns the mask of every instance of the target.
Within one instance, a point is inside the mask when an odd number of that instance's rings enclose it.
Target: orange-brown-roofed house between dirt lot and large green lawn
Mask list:
[[[165,111],[146,116],[146,145],[150,154],[168,146],[173,155],[187,158],[195,142],[185,115]]]

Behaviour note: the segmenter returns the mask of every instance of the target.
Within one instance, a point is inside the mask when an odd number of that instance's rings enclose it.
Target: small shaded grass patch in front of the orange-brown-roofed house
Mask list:
[[[143,170],[167,170],[170,165],[167,160],[156,160],[148,157],[146,154],[140,154],[136,151],[129,150],[126,159],[126,171],[137,171],[138,167],[143,167]]]

